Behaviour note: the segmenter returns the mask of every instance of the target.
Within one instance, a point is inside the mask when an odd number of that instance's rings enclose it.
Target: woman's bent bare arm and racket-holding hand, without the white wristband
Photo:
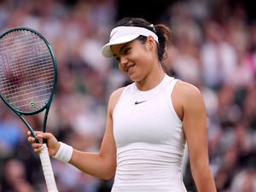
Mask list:
[[[112,113],[114,106],[119,100],[121,91],[122,89],[114,91],[109,98],[106,131],[99,153],[82,152],[73,149],[71,160],[68,161],[68,163],[76,166],[82,172],[105,180],[111,179],[114,176],[116,169],[116,146],[113,138]],[[43,138],[47,139],[49,155],[55,155],[60,148],[60,143],[55,137],[51,133],[37,131],[36,134],[40,140]],[[32,143],[35,152],[39,153],[42,144],[35,143],[30,132],[28,132],[28,135],[29,143]]]

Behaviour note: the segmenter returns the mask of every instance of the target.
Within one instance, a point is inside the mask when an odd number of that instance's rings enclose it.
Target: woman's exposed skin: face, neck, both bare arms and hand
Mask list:
[[[150,90],[165,76],[157,56],[157,44],[149,36],[145,44],[134,40],[125,44],[113,45],[112,51],[119,63],[119,69],[137,84],[139,90]],[[70,164],[102,179],[110,179],[116,169],[116,145],[113,138],[113,108],[119,101],[123,88],[113,91],[108,102],[106,131],[99,153],[81,152],[73,149]],[[172,92],[173,106],[183,121],[183,131],[189,148],[191,172],[199,192],[216,192],[212,173],[209,169],[207,151],[207,113],[201,92],[194,85],[178,81]],[[193,102],[191,102],[193,101]],[[54,155],[60,143],[51,133],[36,132],[38,138],[48,139],[49,155]],[[28,141],[39,153],[41,143],[35,143],[28,132]]]

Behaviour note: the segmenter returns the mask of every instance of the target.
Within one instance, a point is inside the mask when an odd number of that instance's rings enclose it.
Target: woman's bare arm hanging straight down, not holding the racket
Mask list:
[[[182,106],[180,114],[196,188],[198,192],[216,192],[208,161],[207,113],[201,93],[195,86],[184,82],[177,83],[175,92],[176,103]]]

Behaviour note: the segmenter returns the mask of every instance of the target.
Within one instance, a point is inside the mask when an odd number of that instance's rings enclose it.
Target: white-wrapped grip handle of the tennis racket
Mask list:
[[[48,192],[58,192],[58,189],[57,189],[56,183],[55,183],[54,172],[52,170],[51,163],[49,160],[49,153],[48,153],[46,143],[43,143],[43,148],[42,148],[39,156],[40,156],[40,160],[42,163],[44,179],[46,182]]]

